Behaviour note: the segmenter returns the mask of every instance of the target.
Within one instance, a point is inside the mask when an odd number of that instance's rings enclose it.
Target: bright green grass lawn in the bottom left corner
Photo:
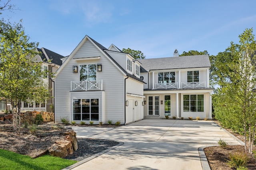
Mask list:
[[[50,155],[31,159],[29,156],[0,149],[0,170],[61,170],[77,161]]]

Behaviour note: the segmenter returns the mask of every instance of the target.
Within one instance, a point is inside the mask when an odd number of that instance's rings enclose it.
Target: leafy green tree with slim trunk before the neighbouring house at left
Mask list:
[[[21,23],[0,21],[0,96],[10,99],[14,130],[20,127],[21,102],[33,100],[34,87],[40,87],[47,74],[34,59],[37,45],[29,41]]]

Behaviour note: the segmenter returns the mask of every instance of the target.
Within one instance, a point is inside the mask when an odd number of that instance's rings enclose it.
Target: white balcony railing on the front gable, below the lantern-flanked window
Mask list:
[[[71,81],[71,91],[102,90],[102,80]]]

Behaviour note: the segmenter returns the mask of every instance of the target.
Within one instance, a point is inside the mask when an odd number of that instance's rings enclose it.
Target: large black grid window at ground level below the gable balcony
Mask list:
[[[74,99],[73,120],[98,121],[99,99]]]

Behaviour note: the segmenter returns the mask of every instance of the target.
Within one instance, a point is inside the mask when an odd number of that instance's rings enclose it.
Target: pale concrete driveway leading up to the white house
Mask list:
[[[218,145],[220,138],[242,143],[212,121],[144,119],[118,128],[72,128],[77,137],[120,142],[66,168],[72,170],[206,170],[204,146]]]

